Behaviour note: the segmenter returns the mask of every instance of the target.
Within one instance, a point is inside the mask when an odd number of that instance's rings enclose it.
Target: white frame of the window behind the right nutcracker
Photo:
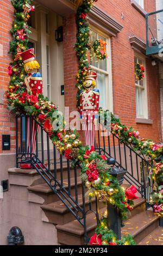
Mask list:
[[[106,71],[100,68],[96,68],[96,66],[90,65],[92,70],[95,70],[98,74],[98,72],[101,72],[102,74],[106,75],[106,107],[104,110],[109,110],[113,113],[113,99],[112,99],[112,66],[111,66],[111,40],[108,35],[97,29],[96,27],[91,26],[91,31],[98,33],[99,35],[106,38],[106,53],[108,55],[108,58],[106,59]],[[103,61],[103,60],[99,60]],[[99,92],[100,93],[100,92]]]

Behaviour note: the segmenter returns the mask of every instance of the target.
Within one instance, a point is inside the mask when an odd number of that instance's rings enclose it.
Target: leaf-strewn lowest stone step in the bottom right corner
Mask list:
[[[163,245],[163,228],[156,228],[145,237],[138,245]]]

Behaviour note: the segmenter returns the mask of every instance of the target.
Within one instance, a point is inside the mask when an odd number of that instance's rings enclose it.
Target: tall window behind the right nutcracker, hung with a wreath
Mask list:
[[[112,76],[111,76],[111,47],[110,39],[106,38],[102,33],[91,31],[90,32],[91,43],[98,39],[106,41],[108,58],[105,60],[98,60],[93,57],[91,60],[91,69],[97,73],[96,88],[100,92],[99,107],[103,109],[109,109],[112,112]]]

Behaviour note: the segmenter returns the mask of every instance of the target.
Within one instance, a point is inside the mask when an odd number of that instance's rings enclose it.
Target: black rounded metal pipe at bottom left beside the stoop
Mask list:
[[[22,235],[22,231],[18,227],[12,227],[9,231],[8,235],[9,245],[18,245],[24,242],[24,236]]]

